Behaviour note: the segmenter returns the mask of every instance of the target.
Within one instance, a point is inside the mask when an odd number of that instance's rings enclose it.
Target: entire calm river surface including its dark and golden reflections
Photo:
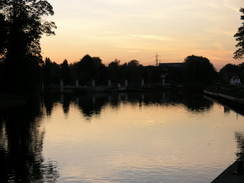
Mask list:
[[[1,111],[0,182],[211,182],[243,114],[201,94],[44,96]]]

